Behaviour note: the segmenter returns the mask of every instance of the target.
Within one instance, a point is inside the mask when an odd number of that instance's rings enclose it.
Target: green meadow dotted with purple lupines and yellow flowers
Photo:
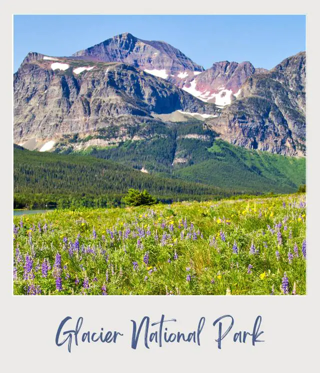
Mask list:
[[[305,294],[304,201],[293,194],[14,217],[13,293]]]

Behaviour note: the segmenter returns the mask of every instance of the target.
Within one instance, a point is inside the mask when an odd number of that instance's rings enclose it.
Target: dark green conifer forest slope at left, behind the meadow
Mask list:
[[[161,201],[207,200],[237,194],[232,189],[149,175],[93,157],[13,152],[14,208],[117,205],[129,188],[146,189]]]

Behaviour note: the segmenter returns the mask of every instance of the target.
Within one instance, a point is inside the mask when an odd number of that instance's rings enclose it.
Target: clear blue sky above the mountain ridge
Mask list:
[[[28,52],[70,56],[114,35],[129,32],[162,40],[195,63],[250,61],[271,69],[305,50],[305,16],[14,16],[16,71]]]

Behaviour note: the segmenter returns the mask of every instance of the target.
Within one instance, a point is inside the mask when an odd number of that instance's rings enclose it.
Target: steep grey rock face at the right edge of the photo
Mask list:
[[[235,145],[305,155],[305,53],[249,76],[237,100],[207,124]]]

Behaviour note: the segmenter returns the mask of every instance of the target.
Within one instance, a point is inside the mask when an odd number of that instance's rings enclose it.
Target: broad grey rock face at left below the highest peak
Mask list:
[[[85,133],[127,116],[175,110],[215,114],[169,82],[123,63],[51,58],[30,53],[13,77],[14,142],[41,144],[63,134]],[[33,144],[34,145],[34,144]]]

